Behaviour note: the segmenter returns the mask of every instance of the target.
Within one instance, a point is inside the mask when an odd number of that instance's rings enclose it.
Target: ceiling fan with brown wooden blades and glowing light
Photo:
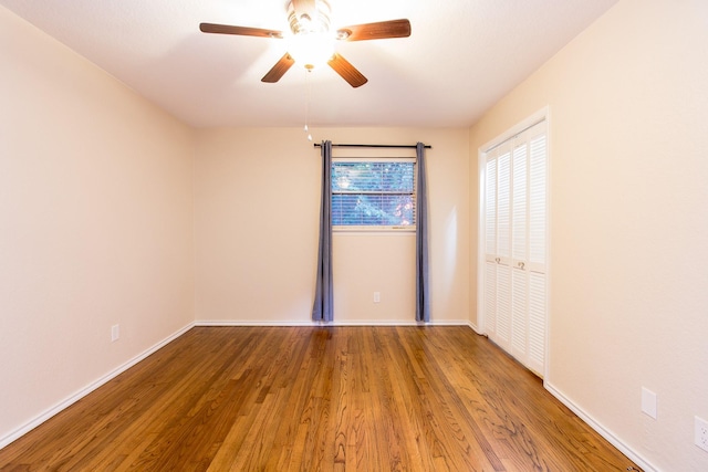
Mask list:
[[[316,60],[308,54],[322,55],[322,59],[348,82],[353,87],[364,85],[368,80],[341,54],[334,52],[334,41],[366,41],[388,38],[407,38],[410,35],[408,20],[391,20],[376,23],[355,24],[330,31],[331,7],[327,0],[291,0],[288,4],[288,22],[292,32],[290,52],[261,78],[262,82],[278,82],[295,63],[303,62],[305,69],[312,70]],[[227,24],[200,23],[199,30],[205,33],[236,34],[283,39],[282,31],[260,28],[232,27]],[[299,50],[295,52],[295,50]],[[302,57],[302,59],[301,59]]]

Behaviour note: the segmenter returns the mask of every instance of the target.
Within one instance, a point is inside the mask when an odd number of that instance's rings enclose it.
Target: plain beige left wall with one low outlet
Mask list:
[[[1,7],[0,70],[2,442],[192,322],[194,141]]]

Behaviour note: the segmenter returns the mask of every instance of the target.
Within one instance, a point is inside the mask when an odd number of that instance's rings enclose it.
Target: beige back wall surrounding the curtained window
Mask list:
[[[468,132],[332,128],[314,135],[334,143],[433,145],[426,154],[431,318],[467,323]],[[319,149],[299,128],[207,129],[198,132],[196,156],[197,322],[310,323]],[[335,233],[335,323],[413,323],[414,244],[409,233]],[[381,292],[378,304],[373,303],[375,291]]]

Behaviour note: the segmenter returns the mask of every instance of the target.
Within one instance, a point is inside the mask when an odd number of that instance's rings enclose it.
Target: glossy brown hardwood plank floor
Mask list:
[[[468,327],[196,327],[0,450],[1,471],[625,471]]]

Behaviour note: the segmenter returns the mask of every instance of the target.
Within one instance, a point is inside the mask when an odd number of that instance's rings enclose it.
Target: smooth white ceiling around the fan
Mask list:
[[[200,22],[287,30],[287,0],[0,0],[181,120],[209,126],[473,124],[617,0],[331,0],[334,28],[407,18],[412,35],[339,42],[368,83],[325,66],[260,78],[283,40],[205,34]]]

